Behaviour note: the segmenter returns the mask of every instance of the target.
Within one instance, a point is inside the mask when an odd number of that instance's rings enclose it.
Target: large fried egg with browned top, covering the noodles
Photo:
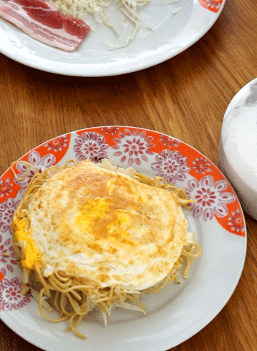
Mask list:
[[[104,165],[104,163],[103,163]],[[81,283],[143,290],[172,270],[193,233],[176,195],[119,169],[86,160],[62,168],[31,197],[14,237],[25,240],[22,264],[44,277],[61,271]]]

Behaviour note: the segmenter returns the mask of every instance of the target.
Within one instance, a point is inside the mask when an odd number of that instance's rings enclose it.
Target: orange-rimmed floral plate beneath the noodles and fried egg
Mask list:
[[[67,133],[26,153],[41,172],[69,159],[109,158],[121,167],[133,166],[146,175],[161,175],[184,188],[195,203],[184,213],[202,255],[180,285],[171,283],[147,297],[148,315],[115,310],[104,328],[98,312],[79,325],[80,340],[65,332],[66,322],[44,320],[38,303],[21,295],[21,270],[11,243],[11,218],[34,170],[17,181],[10,169],[0,178],[0,317],[17,334],[47,351],[167,350],[205,327],[226,305],[246,258],[246,224],[241,205],[221,171],[205,156],[176,138],[156,131],[104,126]],[[19,160],[19,161],[20,161]],[[16,163],[19,173],[26,166]]]

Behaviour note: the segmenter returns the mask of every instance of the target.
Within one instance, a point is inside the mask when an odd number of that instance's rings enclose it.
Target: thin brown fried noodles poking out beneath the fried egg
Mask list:
[[[11,164],[11,170],[14,173],[14,178],[17,180],[24,180],[29,173],[31,168],[34,168],[30,163],[23,162],[27,166],[27,171],[24,175],[19,175],[14,169],[14,163]],[[41,188],[46,181],[51,178],[54,173],[60,171],[63,168],[71,167],[76,165],[75,161],[69,161],[64,166],[52,166],[46,168],[42,173],[36,173],[31,179],[24,196],[19,203],[19,207],[14,214],[15,220],[25,220],[25,230],[29,231],[30,223],[26,218],[26,210],[39,188]],[[111,170],[119,172],[119,168],[111,166]],[[103,168],[105,168],[103,166]],[[107,167],[106,167],[107,168]],[[35,170],[34,170],[35,171]],[[37,171],[36,171],[37,172]],[[122,173],[126,171],[122,170]],[[160,177],[153,179],[146,175],[138,173],[133,168],[128,168],[128,174],[131,178],[137,180],[140,183],[151,185],[156,188],[162,188],[170,190],[178,198],[179,204],[185,208],[188,208],[188,200],[184,190],[176,188],[171,184],[167,184],[166,180]],[[12,230],[15,231],[15,220],[12,222]],[[19,262],[24,259],[24,249],[26,247],[26,241],[18,240],[14,243],[16,255],[19,258]],[[153,285],[151,288],[145,290],[136,290],[133,288],[125,288],[121,285],[112,285],[108,288],[101,288],[101,285],[95,280],[89,279],[86,283],[81,284],[79,279],[66,275],[65,272],[58,271],[51,273],[47,278],[43,275],[43,268],[41,261],[38,260],[34,263],[33,269],[23,267],[23,289],[22,292],[31,291],[31,294],[36,297],[39,301],[39,309],[41,315],[46,320],[51,322],[61,322],[63,320],[69,320],[69,327],[66,329],[72,330],[78,337],[86,339],[76,327],[79,325],[81,320],[91,310],[101,311],[104,317],[104,325],[107,325],[107,317],[111,315],[111,311],[116,307],[123,307],[127,310],[136,310],[146,315],[146,307],[139,301],[139,297],[146,294],[153,294],[163,289],[170,281],[176,281],[179,283],[179,270],[183,266],[183,278],[188,278],[188,270],[191,267],[193,260],[201,255],[200,245],[193,240],[191,245],[184,246],[181,255],[173,265],[171,271],[166,275],[160,283]],[[59,311],[59,317],[50,317],[47,312],[52,310],[54,307]],[[47,312],[46,312],[47,311]]]

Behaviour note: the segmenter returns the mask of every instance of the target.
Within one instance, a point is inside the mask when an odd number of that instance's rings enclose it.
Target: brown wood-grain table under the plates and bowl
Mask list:
[[[256,1],[227,0],[216,24],[191,48],[123,76],[59,76],[0,55],[0,173],[54,136],[106,125],[166,133],[217,165],[223,114],[257,76],[256,18]],[[257,350],[257,223],[248,215],[246,223],[248,254],[235,292],[212,322],[173,351]],[[1,321],[0,330],[1,351],[31,350]]]

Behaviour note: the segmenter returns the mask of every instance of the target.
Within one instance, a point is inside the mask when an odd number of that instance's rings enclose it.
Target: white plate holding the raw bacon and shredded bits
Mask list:
[[[114,5],[118,4],[113,1]],[[161,2],[151,0],[151,4],[139,11],[153,31],[140,29],[136,39],[122,49],[109,50],[106,41],[117,43],[116,36],[106,26],[96,25],[90,17],[86,21],[96,31],[91,31],[73,53],[42,44],[0,19],[0,52],[27,66],[69,76],[129,73],[171,59],[194,44],[213,26],[225,4],[225,0],[180,0],[165,6]],[[173,15],[178,6],[181,11]],[[133,27],[128,21],[121,21],[119,10],[113,13],[113,23],[119,23],[121,33],[131,34]]]

